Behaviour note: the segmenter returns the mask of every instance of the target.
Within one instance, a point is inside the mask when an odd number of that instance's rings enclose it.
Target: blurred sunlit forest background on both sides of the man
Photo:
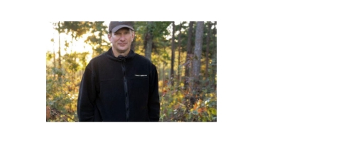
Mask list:
[[[46,121],[77,122],[85,67],[111,45],[109,21],[50,22]],[[158,70],[161,122],[217,122],[217,21],[135,21],[131,49]]]

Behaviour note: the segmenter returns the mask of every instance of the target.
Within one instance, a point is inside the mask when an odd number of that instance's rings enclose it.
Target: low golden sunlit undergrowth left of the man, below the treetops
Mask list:
[[[63,56],[63,68],[46,65],[46,105],[50,107],[48,121],[77,121],[78,84],[89,53],[70,53]],[[51,53],[47,53],[50,60]]]

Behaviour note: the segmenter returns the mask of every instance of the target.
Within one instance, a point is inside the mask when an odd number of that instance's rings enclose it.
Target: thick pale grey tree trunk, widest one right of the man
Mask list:
[[[202,54],[202,36],[204,33],[204,21],[197,22],[195,30],[195,47],[194,47],[194,60],[193,60],[193,84],[190,85],[192,94],[195,95],[200,89],[200,61]],[[195,97],[196,98],[196,97]]]

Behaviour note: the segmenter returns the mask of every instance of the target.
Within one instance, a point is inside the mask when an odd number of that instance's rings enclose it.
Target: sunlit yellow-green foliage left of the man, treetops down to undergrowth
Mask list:
[[[53,26],[58,33],[72,36],[72,41],[60,41],[65,43],[65,55],[58,57],[62,59],[61,68],[54,67],[53,56],[55,54],[46,53],[46,121],[77,121],[78,89],[90,52],[70,51],[72,50],[70,43],[87,35],[85,43],[92,46],[93,54],[103,53],[109,48],[104,40],[104,35],[107,35],[107,26],[104,26],[103,22],[89,21],[65,21],[53,23]]]

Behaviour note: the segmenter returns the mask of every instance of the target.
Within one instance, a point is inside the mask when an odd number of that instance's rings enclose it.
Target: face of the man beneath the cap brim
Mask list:
[[[126,53],[130,51],[131,42],[133,42],[135,33],[129,28],[121,28],[108,36],[112,43],[112,49],[117,53]]]

